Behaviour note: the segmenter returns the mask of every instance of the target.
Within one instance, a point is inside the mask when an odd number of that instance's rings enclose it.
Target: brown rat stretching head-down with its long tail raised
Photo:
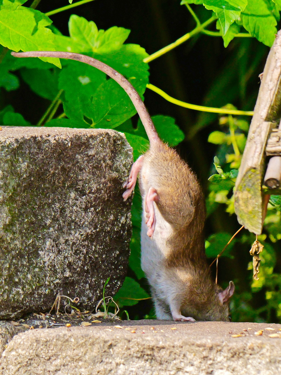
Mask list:
[[[12,52],[15,57],[78,60],[105,72],[128,93],[145,127],[150,148],[133,164],[124,183],[126,200],[139,175],[143,202],[142,269],[151,285],[158,319],[228,321],[232,281],[222,290],[206,263],[203,226],[205,205],[195,175],[179,155],[158,137],[134,87],[108,65],[72,52]]]

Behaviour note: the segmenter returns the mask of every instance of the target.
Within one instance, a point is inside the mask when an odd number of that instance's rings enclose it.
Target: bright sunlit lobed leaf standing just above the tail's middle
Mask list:
[[[121,48],[130,30],[117,26],[106,31],[98,30],[93,21],[72,15],[69,19],[69,34],[81,52],[104,54]]]

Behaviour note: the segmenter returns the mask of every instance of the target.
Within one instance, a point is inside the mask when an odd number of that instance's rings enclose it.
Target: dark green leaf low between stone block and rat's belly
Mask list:
[[[122,287],[115,294],[114,301],[119,307],[123,307],[136,305],[138,299],[144,298],[149,298],[146,291],[134,279],[126,277]]]

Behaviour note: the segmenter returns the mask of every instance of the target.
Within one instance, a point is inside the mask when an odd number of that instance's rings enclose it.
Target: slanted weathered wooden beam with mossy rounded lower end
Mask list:
[[[271,130],[281,117],[281,31],[263,71],[262,83],[235,185],[234,207],[239,223],[262,232],[268,196],[262,194],[265,148]]]

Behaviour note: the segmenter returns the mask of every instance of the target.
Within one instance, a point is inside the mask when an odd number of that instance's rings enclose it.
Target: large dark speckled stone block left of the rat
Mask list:
[[[0,319],[48,311],[58,293],[91,310],[125,277],[132,148],[105,129],[0,132]]]

